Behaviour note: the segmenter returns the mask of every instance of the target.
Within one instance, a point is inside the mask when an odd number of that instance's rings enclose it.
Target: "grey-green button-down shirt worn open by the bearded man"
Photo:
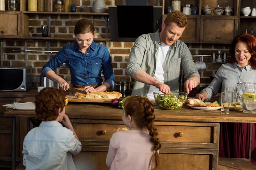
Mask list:
[[[160,47],[159,31],[151,34],[143,34],[134,42],[127,62],[126,71],[133,77],[139,70],[144,70],[154,77],[158,48]],[[177,40],[170,46],[169,53],[164,63],[164,84],[168,85],[171,91],[179,91],[180,65],[183,68],[185,77],[197,76],[200,79],[192,55],[187,45]],[[135,81],[132,95],[146,96],[150,85]]]

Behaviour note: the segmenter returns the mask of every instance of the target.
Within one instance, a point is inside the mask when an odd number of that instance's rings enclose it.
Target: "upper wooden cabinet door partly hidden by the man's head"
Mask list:
[[[163,22],[167,15],[163,15]],[[200,16],[199,15],[186,15],[187,25],[179,40],[186,43],[199,43],[200,36]]]

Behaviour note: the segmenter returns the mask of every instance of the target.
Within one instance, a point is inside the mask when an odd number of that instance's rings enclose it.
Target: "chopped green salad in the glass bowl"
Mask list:
[[[183,102],[185,102],[183,101],[184,98],[185,96],[176,97],[170,93],[166,95],[157,95],[156,102],[161,108],[173,110],[182,107]]]

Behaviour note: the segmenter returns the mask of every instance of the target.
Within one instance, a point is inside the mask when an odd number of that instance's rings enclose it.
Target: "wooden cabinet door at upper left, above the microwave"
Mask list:
[[[0,36],[18,35],[18,14],[0,14]]]

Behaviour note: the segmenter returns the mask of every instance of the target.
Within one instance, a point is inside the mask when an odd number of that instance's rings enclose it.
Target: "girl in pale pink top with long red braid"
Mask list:
[[[151,170],[159,165],[161,144],[154,119],[148,98],[131,96],[125,101],[122,121],[130,130],[118,128],[111,137],[106,160],[110,170]]]

